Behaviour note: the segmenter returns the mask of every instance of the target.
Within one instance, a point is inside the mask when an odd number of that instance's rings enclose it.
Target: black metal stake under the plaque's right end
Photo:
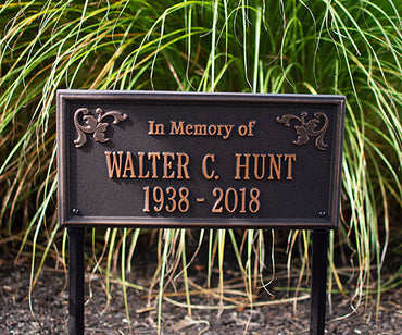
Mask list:
[[[329,231],[313,231],[313,265],[310,334],[324,335],[327,293],[327,251]]]

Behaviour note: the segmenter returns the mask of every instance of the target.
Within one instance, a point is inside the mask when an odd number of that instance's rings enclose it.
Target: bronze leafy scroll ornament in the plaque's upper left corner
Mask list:
[[[95,112],[98,114],[97,119],[89,113],[87,108],[79,108],[75,111],[74,125],[78,133],[78,137],[74,139],[76,148],[80,148],[87,142],[87,137],[85,134],[93,134],[95,140],[101,144],[104,144],[109,140],[109,138],[105,137],[104,132],[110,123],[102,122],[105,117],[112,116],[113,124],[117,124],[118,122],[127,119],[127,114],[122,114],[117,111],[111,111],[103,114],[102,109],[97,108]],[[80,114],[83,116],[80,116]],[[79,123],[80,117],[85,122],[84,125]]]

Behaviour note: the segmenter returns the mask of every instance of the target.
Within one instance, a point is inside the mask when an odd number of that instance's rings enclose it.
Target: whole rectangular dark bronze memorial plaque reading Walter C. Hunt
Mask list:
[[[336,228],[344,97],[58,92],[62,226]]]

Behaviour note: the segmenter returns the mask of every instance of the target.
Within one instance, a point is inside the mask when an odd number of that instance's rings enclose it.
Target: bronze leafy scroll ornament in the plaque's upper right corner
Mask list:
[[[296,116],[296,115],[282,115],[281,117],[276,117],[276,121],[279,123],[282,123],[285,126],[290,127],[290,120],[294,119],[300,122],[301,125],[294,126],[296,133],[298,135],[298,139],[293,140],[293,144],[297,146],[303,146],[305,145],[309,140],[310,137],[316,137],[315,139],[315,146],[319,150],[325,150],[327,147],[326,144],[324,144],[324,134],[328,128],[328,116],[325,115],[324,113],[314,113],[314,117],[310,120],[309,122],[305,122],[305,116],[307,116],[307,112],[302,112],[301,117]],[[316,129],[317,125],[321,123],[319,117],[324,119],[324,125],[319,128]]]

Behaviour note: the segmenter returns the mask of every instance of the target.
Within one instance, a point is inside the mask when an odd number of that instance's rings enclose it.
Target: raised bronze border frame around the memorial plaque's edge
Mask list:
[[[214,102],[275,102],[309,103],[337,106],[336,124],[332,124],[335,138],[331,151],[331,175],[329,201],[331,209],[324,219],[239,219],[239,218],[143,218],[143,216],[79,216],[68,213],[68,146],[66,123],[66,102],[97,100],[100,102],[125,101],[203,101]],[[344,132],[346,97],[338,95],[300,95],[300,94],[235,94],[235,92],[173,92],[173,91],[135,91],[135,90],[76,90],[56,91],[56,141],[58,141],[58,202],[59,223],[62,227],[149,227],[149,228],[297,228],[297,229],[336,229],[340,216],[340,189],[342,169],[342,148]]]

